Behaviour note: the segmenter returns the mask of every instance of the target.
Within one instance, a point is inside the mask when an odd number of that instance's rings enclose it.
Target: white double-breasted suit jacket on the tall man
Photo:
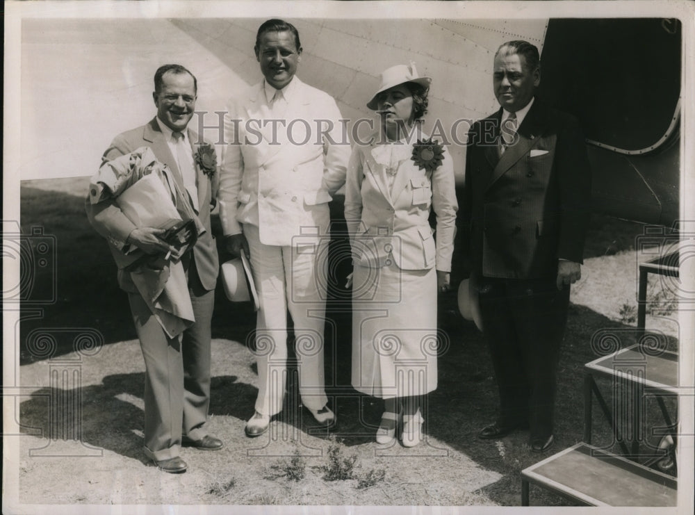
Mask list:
[[[225,235],[254,224],[261,243],[291,245],[345,183],[350,144],[336,101],[296,76],[283,93],[281,115],[271,115],[263,81],[229,102],[218,195]]]

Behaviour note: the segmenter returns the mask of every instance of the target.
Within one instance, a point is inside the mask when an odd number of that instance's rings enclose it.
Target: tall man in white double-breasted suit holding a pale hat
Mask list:
[[[250,257],[261,304],[259,395],[247,436],[263,434],[282,409],[288,310],[302,404],[318,423],[335,421],[323,370],[328,202],[345,182],[350,156],[335,100],[295,76],[302,56],[297,29],[268,20],[254,52],[264,80],[230,101],[219,196],[227,248]]]

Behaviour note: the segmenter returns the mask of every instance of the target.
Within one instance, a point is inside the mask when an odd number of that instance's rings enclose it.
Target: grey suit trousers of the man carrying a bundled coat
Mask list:
[[[210,338],[215,292],[188,270],[195,324],[169,338],[138,293],[128,299],[145,358],[145,454],[157,461],[179,455],[181,435],[198,440],[210,404]]]

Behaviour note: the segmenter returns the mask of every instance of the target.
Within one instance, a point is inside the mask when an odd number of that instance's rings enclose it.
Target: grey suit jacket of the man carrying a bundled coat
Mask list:
[[[198,136],[190,129],[188,129],[188,141],[191,142],[192,152],[195,155],[195,144],[198,142]],[[106,149],[106,152],[104,152],[103,158],[109,161],[129,154],[140,147],[150,147],[157,160],[170,167],[174,178],[179,184],[179,188],[182,191],[185,190],[177,160],[167,144],[164,133],[159,128],[156,117],[144,126],[116,136],[108,149]],[[200,282],[203,288],[209,291],[215,289],[219,270],[218,252],[210,227],[210,211],[217,195],[219,174],[215,172],[210,178],[204,174],[197,163],[195,169],[199,206],[198,218],[206,231],[199,236],[193,247],[193,259],[195,259],[195,268]],[[87,199],[85,207],[92,226],[101,236],[108,240],[108,245],[114,254],[116,263],[119,265],[118,284],[124,291],[137,293],[138,290],[133,281],[131,281],[130,274],[124,272],[120,265],[123,263],[122,255],[123,251],[126,250],[126,239],[131,234],[131,231],[136,228],[135,225],[126,218],[126,215],[113,201],[92,205],[89,199]]]

